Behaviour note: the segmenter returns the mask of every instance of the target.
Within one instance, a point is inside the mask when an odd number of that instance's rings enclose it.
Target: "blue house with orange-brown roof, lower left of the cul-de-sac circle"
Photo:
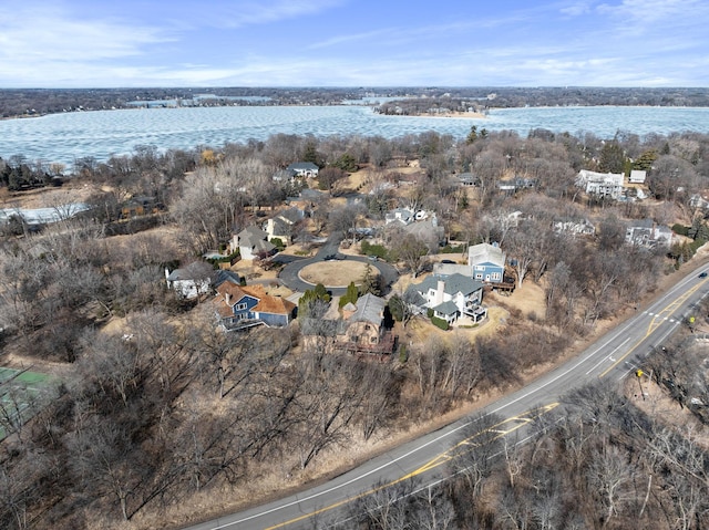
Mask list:
[[[296,311],[295,303],[266,294],[263,285],[237,285],[230,281],[217,288],[214,303],[219,324],[225,330],[260,324],[282,328],[288,325]]]

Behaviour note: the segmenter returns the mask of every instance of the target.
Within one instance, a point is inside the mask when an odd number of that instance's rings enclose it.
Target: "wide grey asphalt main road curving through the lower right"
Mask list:
[[[552,411],[569,389],[599,377],[620,382],[635,372],[641,358],[660,345],[691,315],[709,292],[709,279],[692,271],[645,310],[606,333],[575,358],[525,387],[492,403],[483,412],[506,418],[500,430],[523,429],[535,415]],[[469,419],[404,444],[332,480],[239,513],[189,527],[191,530],[328,528],[345,517],[342,507],[367,495],[376,484],[418,477],[430,484],[440,477],[451,446]]]

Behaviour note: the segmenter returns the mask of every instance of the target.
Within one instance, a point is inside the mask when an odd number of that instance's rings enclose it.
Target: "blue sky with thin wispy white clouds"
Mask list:
[[[0,87],[707,87],[708,27],[708,0],[0,0]]]

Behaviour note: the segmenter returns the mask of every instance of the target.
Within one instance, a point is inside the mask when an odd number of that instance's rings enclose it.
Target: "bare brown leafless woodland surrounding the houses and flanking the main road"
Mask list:
[[[304,160],[322,168],[322,183],[274,178]],[[576,186],[580,169],[647,170],[647,197],[586,195]],[[459,178],[465,173],[476,178],[470,189]],[[367,177],[350,186],[358,174]],[[501,191],[501,181],[515,180],[525,185]],[[538,285],[543,306],[524,312],[513,304],[516,293],[493,294],[508,313],[499,333],[431,334],[367,362],[304,342],[298,322],[223,333],[206,300],[166,289],[165,267],[201,261],[306,188],[319,193],[294,232],[304,248],[312,237],[378,227],[392,208],[425,209],[449,245],[499,242],[514,257],[510,278]],[[0,225],[0,357],[55,381],[2,402],[0,526],[175,528],[240,507],[228,498],[264,498],[274,484],[292,488],[351,466],[516,387],[634,311],[692,258],[709,240],[696,199],[706,188],[709,136],[692,133],[472,129],[462,141],[432,132],[391,141],[280,134],[193,150],[141,146],[74,167],[0,159],[3,208],[37,197],[58,210],[64,199],[89,206],[44,226],[21,216]],[[582,219],[594,235],[555,228]],[[675,227],[680,242],[628,245],[627,225],[643,219]],[[372,245],[413,277],[443,250],[397,233]],[[404,297],[398,284],[383,294]],[[392,313],[409,336],[418,318]],[[653,361],[655,384],[682,406],[701,388],[709,403],[699,370],[706,354],[679,354],[689,349],[668,345]],[[18,422],[13,406],[27,407],[30,419]],[[425,495],[390,505],[363,499],[352,506],[352,528],[709,526],[707,445],[684,425],[653,419],[618,388],[579,389],[534,428],[525,446],[490,437],[453,459],[452,477]]]

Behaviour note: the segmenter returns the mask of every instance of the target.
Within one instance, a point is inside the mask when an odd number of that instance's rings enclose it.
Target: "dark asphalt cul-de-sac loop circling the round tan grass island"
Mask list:
[[[309,264],[317,263],[318,261],[326,261],[326,258],[329,256],[337,256],[338,250],[340,248],[340,241],[342,240],[342,235],[335,232],[331,235],[327,242],[318,250],[318,253],[312,258],[305,258],[294,260],[290,263],[287,263],[278,274],[280,281],[292,291],[305,292],[308,289],[312,289],[315,285],[312,283],[308,283],[304,281],[298,276],[302,269],[308,267]],[[382,290],[386,292],[387,289],[397,281],[399,278],[399,272],[389,263],[384,263],[383,261],[371,261],[369,258],[361,256],[345,256],[345,260],[351,261],[363,261],[370,262],[372,267],[379,270],[379,274],[382,280]],[[326,285],[328,291],[332,293],[335,297],[341,297],[347,292],[346,287],[328,287]]]

